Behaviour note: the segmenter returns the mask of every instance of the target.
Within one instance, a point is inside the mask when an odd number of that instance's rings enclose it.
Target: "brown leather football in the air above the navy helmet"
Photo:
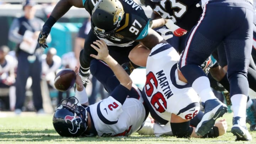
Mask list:
[[[63,69],[54,78],[54,86],[58,91],[67,91],[74,86],[76,80],[75,71]]]

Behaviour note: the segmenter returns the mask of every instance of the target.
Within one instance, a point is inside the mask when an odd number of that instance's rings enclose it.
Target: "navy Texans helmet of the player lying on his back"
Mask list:
[[[53,116],[53,126],[63,137],[80,136],[88,127],[87,121],[87,111],[76,97],[63,99]]]

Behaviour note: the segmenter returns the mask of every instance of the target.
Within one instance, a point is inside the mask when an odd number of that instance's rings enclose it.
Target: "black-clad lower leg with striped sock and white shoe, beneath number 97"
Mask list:
[[[92,30],[88,33],[88,36],[84,43],[84,49],[81,50],[79,60],[80,60],[80,69],[79,74],[81,75],[82,82],[86,87],[87,83],[90,83],[88,80],[90,76],[90,62],[93,59],[90,54],[96,54],[97,51],[91,47],[92,42],[98,40],[98,37],[95,36]]]

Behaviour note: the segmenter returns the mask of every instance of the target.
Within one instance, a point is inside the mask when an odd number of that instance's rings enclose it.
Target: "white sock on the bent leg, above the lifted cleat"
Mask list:
[[[192,88],[197,92],[202,102],[216,99],[212,89],[210,88],[210,81],[206,76],[197,78],[193,82]]]

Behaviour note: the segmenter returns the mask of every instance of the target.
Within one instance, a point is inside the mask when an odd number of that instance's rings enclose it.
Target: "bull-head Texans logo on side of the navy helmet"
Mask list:
[[[76,134],[78,132],[78,129],[80,128],[80,123],[82,122],[82,119],[78,116],[65,116],[65,122],[68,123],[68,121],[70,121],[73,126],[72,129],[69,128],[69,132],[71,134]],[[74,127],[74,124],[76,125],[76,127]]]

